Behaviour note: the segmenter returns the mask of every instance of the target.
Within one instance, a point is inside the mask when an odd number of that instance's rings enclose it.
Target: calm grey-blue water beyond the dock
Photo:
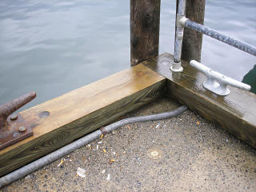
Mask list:
[[[160,54],[174,52],[176,0],[162,0]],[[130,66],[130,1],[1,0],[0,104],[35,90],[30,105]],[[208,0],[205,24],[256,46],[255,0]],[[256,58],[204,37],[202,63],[242,81]]]

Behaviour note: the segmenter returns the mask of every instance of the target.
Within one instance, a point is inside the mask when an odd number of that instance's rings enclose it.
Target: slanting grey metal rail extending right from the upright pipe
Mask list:
[[[182,26],[186,26],[187,28],[190,28],[191,30],[196,30],[202,34],[206,34],[210,36],[211,38],[215,38],[218,41],[225,42],[226,44],[230,46],[234,46],[235,48],[238,48],[239,50],[243,50],[248,54],[252,54],[256,56],[256,47],[250,46],[249,44],[245,42],[240,42],[238,40],[235,40],[234,38],[230,38],[224,34],[220,34],[215,30],[210,29],[207,26],[202,26],[198,24],[197,22],[192,22],[190,19],[186,18],[186,21],[180,21],[180,24]]]

